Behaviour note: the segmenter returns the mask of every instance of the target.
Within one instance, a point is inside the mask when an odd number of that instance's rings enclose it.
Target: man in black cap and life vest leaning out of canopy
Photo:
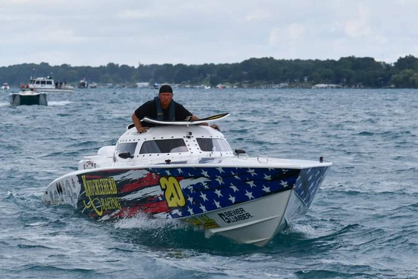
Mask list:
[[[141,119],[145,116],[165,121],[199,120],[199,117],[189,112],[183,105],[174,102],[173,89],[170,85],[161,86],[154,100],[144,103],[132,114],[132,121],[139,133],[156,126],[148,122],[141,123]],[[206,126],[209,126],[209,123],[206,123]],[[210,127],[219,130],[218,125],[214,124]]]

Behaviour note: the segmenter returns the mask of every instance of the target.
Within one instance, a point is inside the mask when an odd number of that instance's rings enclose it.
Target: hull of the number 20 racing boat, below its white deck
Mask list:
[[[224,165],[227,162],[225,158]],[[208,237],[218,234],[263,246],[308,210],[330,166],[313,162],[305,169],[222,164],[93,168],[53,181],[42,200],[73,205],[102,221],[139,212],[180,219],[202,226]]]

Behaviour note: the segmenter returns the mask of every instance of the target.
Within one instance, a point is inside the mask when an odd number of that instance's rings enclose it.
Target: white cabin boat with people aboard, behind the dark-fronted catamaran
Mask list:
[[[30,91],[47,93],[72,93],[74,88],[66,82],[56,82],[52,77],[52,73],[47,77],[30,78],[28,84],[21,84],[22,91]]]

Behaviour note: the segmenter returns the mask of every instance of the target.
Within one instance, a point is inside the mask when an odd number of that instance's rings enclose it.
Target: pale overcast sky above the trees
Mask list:
[[[0,0],[0,66],[418,57],[418,0]]]

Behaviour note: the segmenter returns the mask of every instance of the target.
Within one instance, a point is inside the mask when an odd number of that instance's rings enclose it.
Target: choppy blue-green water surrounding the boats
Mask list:
[[[83,155],[115,144],[154,90],[0,95],[0,278],[418,278],[414,90],[186,90],[250,155],[334,163],[307,216],[263,248],[173,220],[100,223],[40,197]]]

